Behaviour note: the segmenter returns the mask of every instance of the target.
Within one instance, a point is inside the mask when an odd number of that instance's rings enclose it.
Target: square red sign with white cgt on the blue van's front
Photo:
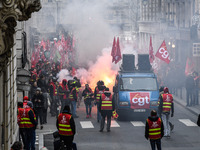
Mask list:
[[[132,109],[149,109],[150,93],[149,92],[131,92],[130,103]]]

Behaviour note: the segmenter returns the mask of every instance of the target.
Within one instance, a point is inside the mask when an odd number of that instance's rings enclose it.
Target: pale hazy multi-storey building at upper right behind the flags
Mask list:
[[[195,34],[193,16],[197,1],[191,0],[141,0],[139,21],[140,48],[148,53],[152,36],[154,53],[165,40],[172,62],[185,65],[192,56]],[[197,33],[197,31],[196,31]]]

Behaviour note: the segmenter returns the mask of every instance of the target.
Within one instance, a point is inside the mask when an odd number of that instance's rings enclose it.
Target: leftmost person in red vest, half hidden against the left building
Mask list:
[[[17,124],[19,126],[19,135],[21,136],[22,142],[25,146],[26,138],[25,138],[25,129],[24,129],[24,124],[23,124],[23,112],[24,112],[23,103],[18,102]],[[25,147],[24,147],[24,149],[25,149]]]

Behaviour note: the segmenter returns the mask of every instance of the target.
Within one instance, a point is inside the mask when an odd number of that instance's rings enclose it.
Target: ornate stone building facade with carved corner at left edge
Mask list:
[[[0,2],[0,149],[2,150],[10,149],[10,145],[17,140],[18,135],[17,62],[20,62],[21,55],[17,54],[17,51],[22,51],[22,37],[19,32],[23,30],[22,22],[40,9],[39,0]]]

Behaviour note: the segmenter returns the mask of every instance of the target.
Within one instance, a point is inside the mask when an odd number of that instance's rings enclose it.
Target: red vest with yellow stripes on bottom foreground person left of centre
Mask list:
[[[70,126],[70,119],[72,115],[60,113],[58,116],[58,131],[60,135],[72,136],[74,135]]]

